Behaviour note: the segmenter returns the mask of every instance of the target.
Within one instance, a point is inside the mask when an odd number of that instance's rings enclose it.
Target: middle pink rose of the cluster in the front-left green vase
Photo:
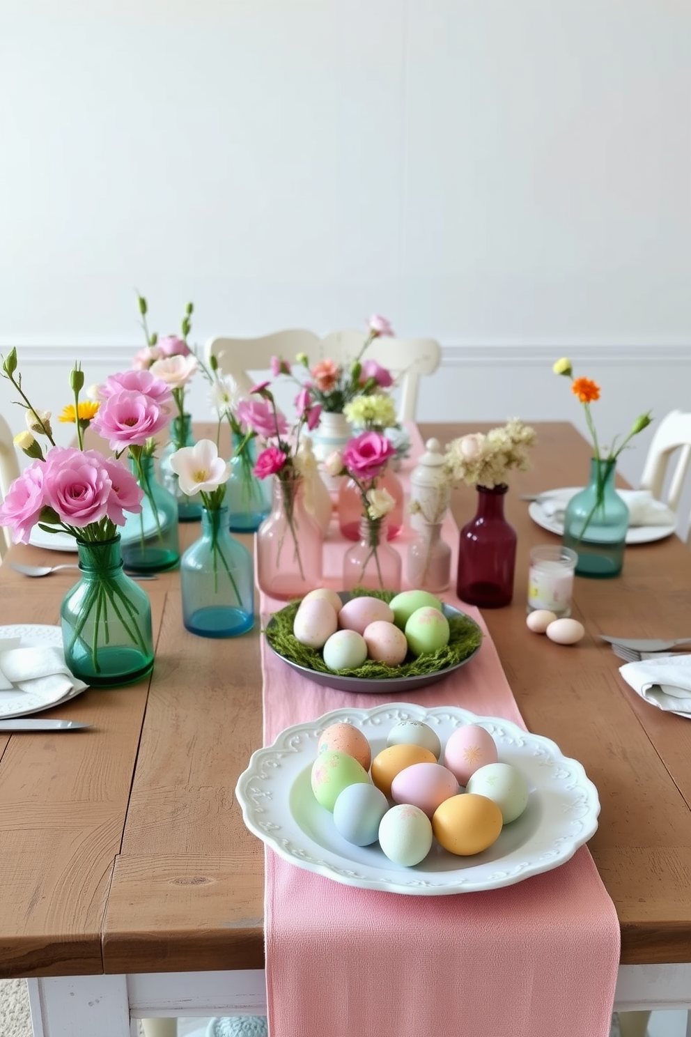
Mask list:
[[[112,482],[96,450],[53,447],[44,466],[45,504],[60,521],[82,529],[108,514]]]

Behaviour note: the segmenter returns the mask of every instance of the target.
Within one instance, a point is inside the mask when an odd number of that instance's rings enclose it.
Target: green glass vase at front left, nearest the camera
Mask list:
[[[65,663],[95,688],[141,680],[153,669],[151,606],[122,570],[120,537],[77,550],[82,576],[60,607]]]

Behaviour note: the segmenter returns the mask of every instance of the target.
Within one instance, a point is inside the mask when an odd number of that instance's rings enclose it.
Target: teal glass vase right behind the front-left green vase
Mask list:
[[[166,572],[180,561],[177,501],[155,476],[153,457],[131,461],[144,491],[142,510],[127,513],[122,538],[122,559],[134,572]]]

